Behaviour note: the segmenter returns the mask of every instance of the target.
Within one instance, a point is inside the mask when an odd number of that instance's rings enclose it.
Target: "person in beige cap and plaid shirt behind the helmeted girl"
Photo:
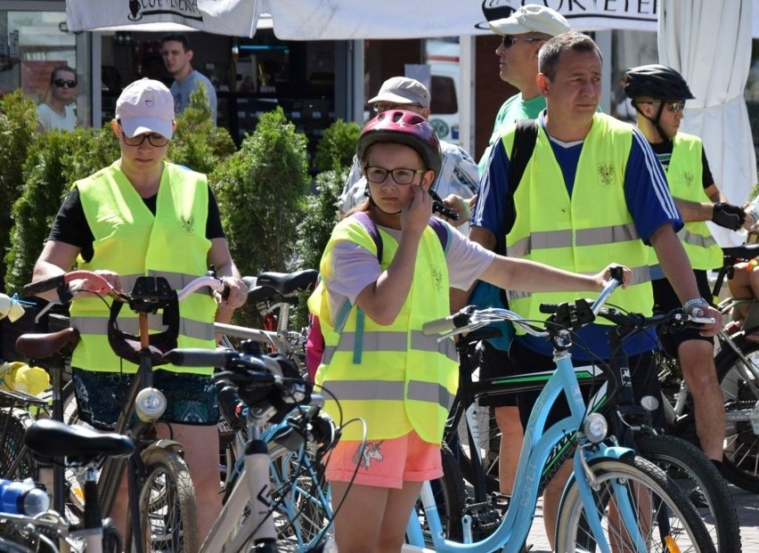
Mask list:
[[[431,98],[427,86],[418,80],[409,77],[392,77],[382,83],[380,93],[371,98],[369,103],[375,113],[386,110],[409,110],[428,119]],[[432,183],[432,190],[443,199],[451,194],[465,200],[475,196],[479,179],[474,159],[471,159],[469,153],[461,146],[451,142],[440,141],[440,150],[443,152],[443,166],[436,172],[437,179]],[[345,215],[360,205],[366,199],[366,194],[366,179],[359,160],[354,158],[345,187],[338,199],[340,213]],[[452,202],[449,199],[446,203]],[[452,207],[463,209],[465,203],[460,201],[452,204]],[[469,230],[469,210],[460,216],[458,225],[461,232],[466,233]]]

